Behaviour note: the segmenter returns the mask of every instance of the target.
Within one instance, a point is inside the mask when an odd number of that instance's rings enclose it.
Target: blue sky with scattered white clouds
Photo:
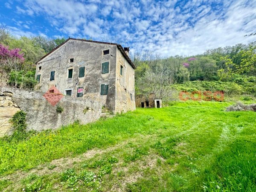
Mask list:
[[[3,3],[2,3],[3,2]],[[117,42],[166,57],[256,41],[256,0],[1,0],[15,36]]]

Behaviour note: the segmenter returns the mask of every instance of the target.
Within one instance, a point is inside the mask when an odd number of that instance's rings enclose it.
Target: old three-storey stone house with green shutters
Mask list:
[[[135,66],[120,44],[69,38],[36,63],[36,89],[90,98],[109,110],[135,109]]]

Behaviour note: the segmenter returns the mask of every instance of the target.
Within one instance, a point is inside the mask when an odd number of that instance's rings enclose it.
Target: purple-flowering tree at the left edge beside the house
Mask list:
[[[9,49],[8,46],[0,44],[0,84],[5,86],[11,71],[21,70],[24,62],[21,49]]]

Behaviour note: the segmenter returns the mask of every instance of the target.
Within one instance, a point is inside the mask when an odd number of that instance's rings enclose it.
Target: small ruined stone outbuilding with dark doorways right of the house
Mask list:
[[[150,93],[148,98],[144,95],[137,95],[135,98],[136,107],[139,108],[161,108],[162,99],[156,99],[155,93]]]

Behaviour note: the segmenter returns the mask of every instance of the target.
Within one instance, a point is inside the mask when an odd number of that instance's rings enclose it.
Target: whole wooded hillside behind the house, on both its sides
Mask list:
[[[35,62],[65,38],[14,37],[0,27],[0,85],[32,89]],[[131,45],[132,46],[132,45]],[[207,49],[201,55],[161,58],[150,51],[131,53],[137,94],[156,93],[168,102],[177,91],[224,91],[256,95],[256,42]],[[177,95],[177,93],[176,93]]]

